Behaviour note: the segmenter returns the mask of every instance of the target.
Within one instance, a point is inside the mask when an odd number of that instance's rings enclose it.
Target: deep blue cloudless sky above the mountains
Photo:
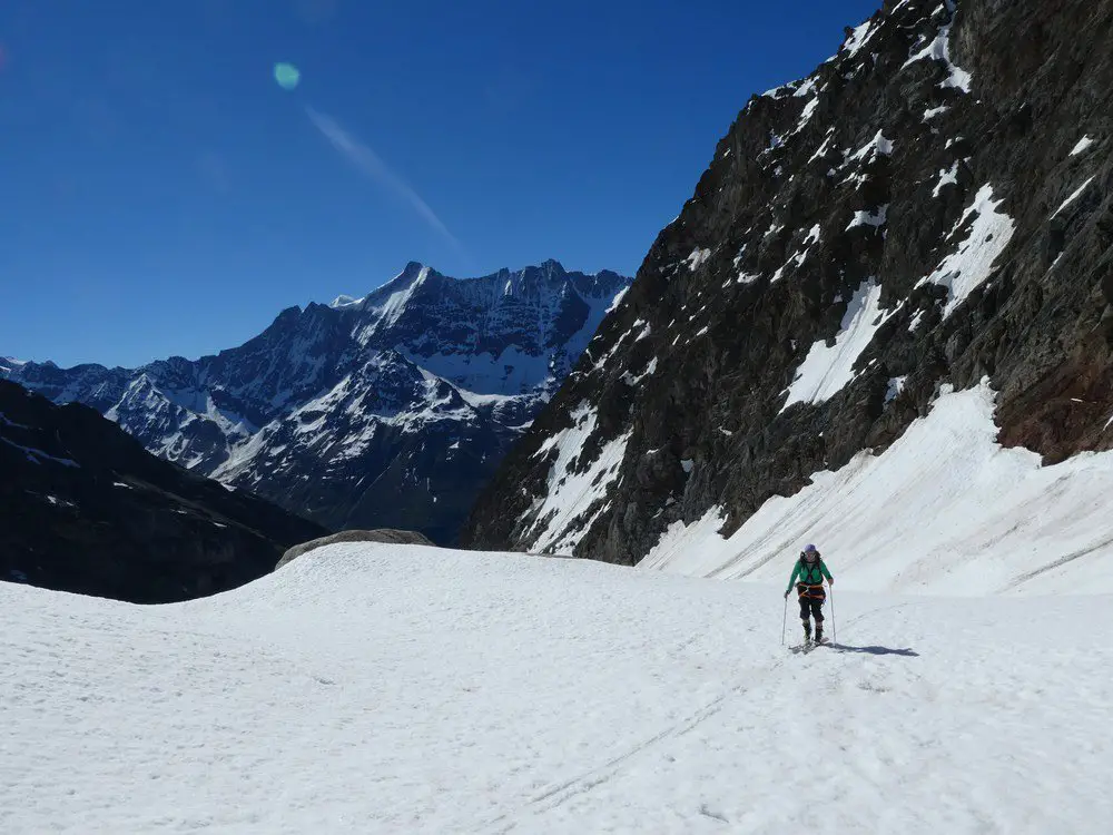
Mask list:
[[[407,261],[633,274],[877,6],[3,0],[0,354],[195,357]]]

